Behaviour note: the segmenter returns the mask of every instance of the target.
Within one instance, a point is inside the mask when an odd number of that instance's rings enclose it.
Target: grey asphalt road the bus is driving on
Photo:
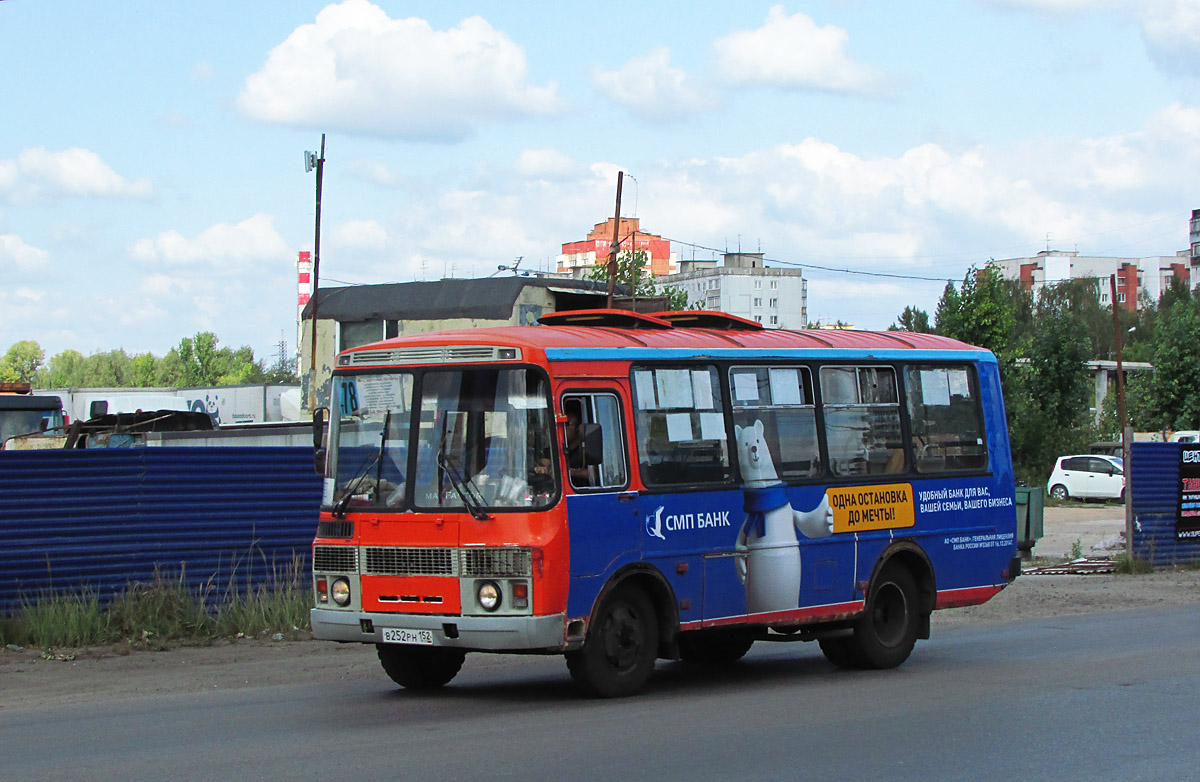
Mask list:
[[[624,700],[559,657],[468,657],[434,696],[380,676],[0,708],[7,780],[1183,780],[1200,607],[953,627],[890,672],[815,644],[660,662]]]

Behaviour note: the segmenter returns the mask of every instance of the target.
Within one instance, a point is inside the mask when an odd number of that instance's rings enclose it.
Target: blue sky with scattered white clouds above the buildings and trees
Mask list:
[[[1200,0],[576,6],[0,0],[0,350],[294,349],[322,133],[328,284],[551,267],[618,170],[682,258],[860,327],[988,258],[1187,246]]]

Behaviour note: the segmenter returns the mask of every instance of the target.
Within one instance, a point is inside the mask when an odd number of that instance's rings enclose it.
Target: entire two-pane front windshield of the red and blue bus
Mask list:
[[[419,404],[416,384],[413,374],[395,372],[337,378],[338,415],[330,433],[335,512],[452,507],[478,515],[542,507],[557,498],[553,416],[542,375],[430,371],[420,378]]]

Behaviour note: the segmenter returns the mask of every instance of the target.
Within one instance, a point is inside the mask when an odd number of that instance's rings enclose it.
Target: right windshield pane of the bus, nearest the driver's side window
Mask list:
[[[559,485],[548,391],[532,369],[426,372],[415,507],[548,505]]]

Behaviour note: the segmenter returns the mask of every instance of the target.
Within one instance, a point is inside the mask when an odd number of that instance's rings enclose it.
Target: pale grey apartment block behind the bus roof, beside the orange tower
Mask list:
[[[685,261],[676,275],[659,277],[666,290],[683,290],[689,306],[756,320],[766,329],[808,325],[808,281],[799,269],[767,269],[762,253],[725,253],[715,261]]]

